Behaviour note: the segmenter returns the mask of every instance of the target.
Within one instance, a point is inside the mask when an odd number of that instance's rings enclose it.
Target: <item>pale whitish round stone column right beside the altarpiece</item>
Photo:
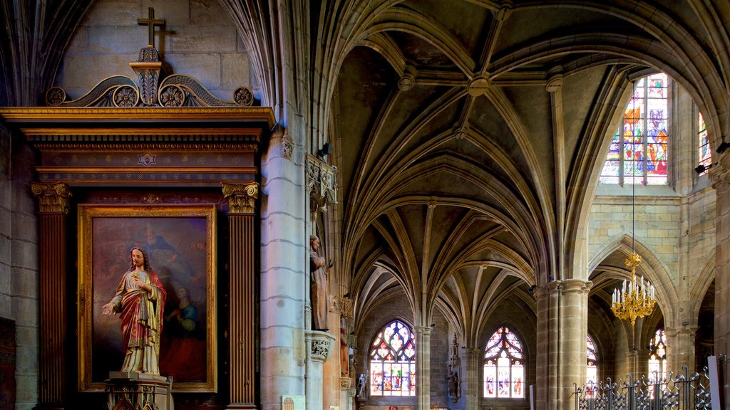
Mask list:
[[[277,127],[261,158],[259,380],[266,410],[281,409],[283,395],[304,395],[304,301],[309,293],[304,190],[301,145]]]

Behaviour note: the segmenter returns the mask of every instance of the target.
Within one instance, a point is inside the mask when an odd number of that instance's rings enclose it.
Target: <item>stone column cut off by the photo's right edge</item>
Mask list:
[[[715,215],[715,355],[730,355],[730,152],[724,152],[710,169],[716,191]],[[721,362],[720,365],[723,365]],[[730,398],[730,383],[724,385]],[[729,406],[726,405],[725,409]]]

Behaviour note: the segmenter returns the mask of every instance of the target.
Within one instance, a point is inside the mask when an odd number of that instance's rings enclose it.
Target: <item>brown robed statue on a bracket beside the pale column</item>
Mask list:
[[[310,236],[310,301],[312,303],[312,330],[329,330],[327,312],[329,310],[329,292],[327,274],[333,265],[326,263],[319,254],[320,240],[316,235]]]

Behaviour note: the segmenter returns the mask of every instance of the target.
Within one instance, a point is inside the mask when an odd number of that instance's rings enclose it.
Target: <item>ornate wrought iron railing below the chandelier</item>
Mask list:
[[[702,374],[675,376],[672,372],[665,379],[655,381],[642,376],[633,379],[629,374],[624,382],[585,384],[575,387],[576,410],[710,410],[710,378],[707,368]]]

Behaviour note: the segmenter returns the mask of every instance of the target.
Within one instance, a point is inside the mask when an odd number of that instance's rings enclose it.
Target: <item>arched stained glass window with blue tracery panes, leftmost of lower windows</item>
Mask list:
[[[393,320],[370,345],[370,395],[415,395],[415,338]]]

